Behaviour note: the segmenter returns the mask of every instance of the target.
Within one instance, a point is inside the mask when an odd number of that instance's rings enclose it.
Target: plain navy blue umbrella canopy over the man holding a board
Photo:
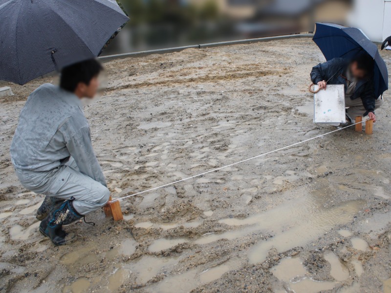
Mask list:
[[[321,49],[326,60],[335,57],[351,59],[360,51],[367,52],[375,61],[373,82],[376,97],[388,90],[388,71],[377,46],[358,28],[334,23],[316,23],[312,39]]]

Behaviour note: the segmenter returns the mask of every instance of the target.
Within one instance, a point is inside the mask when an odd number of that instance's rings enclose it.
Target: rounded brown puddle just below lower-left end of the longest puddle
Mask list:
[[[304,276],[307,272],[300,258],[285,258],[280,264],[270,269],[275,277],[281,281],[289,282],[294,277]]]

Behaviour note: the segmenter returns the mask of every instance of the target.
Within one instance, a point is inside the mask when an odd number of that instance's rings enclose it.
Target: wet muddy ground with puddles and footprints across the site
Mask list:
[[[334,130],[312,122],[306,89],[323,60],[305,38],[107,63],[109,88],[85,113],[112,196]],[[339,131],[129,198],[124,221],[96,211],[55,247],[37,230],[43,196],[9,156],[43,82],[0,100],[0,292],[391,292],[387,92],[371,136]]]

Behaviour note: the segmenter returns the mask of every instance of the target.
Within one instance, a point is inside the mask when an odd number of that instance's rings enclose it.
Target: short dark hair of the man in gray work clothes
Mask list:
[[[96,77],[101,70],[103,67],[96,59],[69,65],[61,70],[60,87],[74,92],[80,82],[88,86],[91,79]]]

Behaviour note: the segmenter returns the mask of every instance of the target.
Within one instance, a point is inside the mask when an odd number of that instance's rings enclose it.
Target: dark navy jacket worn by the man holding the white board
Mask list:
[[[334,58],[325,63],[320,63],[314,66],[311,71],[311,80],[316,85],[318,82],[325,80],[329,85],[344,85],[345,91],[347,90],[347,80],[344,78],[348,61],[343,58]],[[361,98],[363,105],[367,110],[364,116],[369,112],[374,113],[375,110],[375,92],[373,89],[372,80],[365,79],[357,82],[356,88],[351,96],[351,99]]]

